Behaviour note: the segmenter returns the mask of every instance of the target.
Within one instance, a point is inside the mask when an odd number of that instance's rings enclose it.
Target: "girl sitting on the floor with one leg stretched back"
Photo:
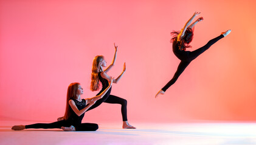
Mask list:
[[[19,125],[13,126],[13,130],[23,130],[23,129],[52,129],[61,128],[65,131],[95,131],[99,128],[98,124],[95,123],[81,123],[85,112],[95,104],[97,100],[102,98],[106,92],[111,88],[112,78],[109,79],[108,87],[105,88],[99,95],[81,99],[80,95],[83,94],[83,88],[81,88],[79,83],[71,83],[67,88],[67,102],[66,102],[66,112],[63,120],[56,121],[54,123],[36,123],[30,125]]]

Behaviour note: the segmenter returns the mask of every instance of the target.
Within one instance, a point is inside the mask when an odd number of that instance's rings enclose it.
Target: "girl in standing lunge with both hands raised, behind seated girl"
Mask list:
[[[105,90],[108,87],[108,81],[111,79],[111,77],[108,76],[107,72],[114,66],[114,63],[116,62],[116,56],[117,56],[117,46],[114,44],[114,47],[116,49],[114,54],[114,59],[112,60],[112,63],[103,70],[103,67],[106,67],[106,60],[103,56],[95,56],[94,60],[92,62],[92,74],[91,74],[91,91],[98,91],[100,88],[100,82],[102,83],[102,90],[98,93],[102,93],[103,90]],[[123,65],[123,72],[120,74],[117,79],[113,79],[113,83],[119,82],[121,77],[123,76],[123,73],[126,71],[125,63]],[[106,92],[103,98],[100,98],[94,105],[92,105],[90,109],[94,109],[97,106],[99,106],[102,102],[105,103],[113,103],[113,104],[120,104],[121,106],[121,112],[122,112],[122,118],[123,118],[123,129],[136,129],[136,127],[131,126],[128,123],[127,120],[127,101],[123,98],[117,97],[115,95],[110,95],[111,88]]]

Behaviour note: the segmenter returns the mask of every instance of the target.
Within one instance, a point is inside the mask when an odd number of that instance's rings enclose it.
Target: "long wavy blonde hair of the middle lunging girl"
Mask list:
[[[92,62],[92,74],[91,74],[91,91],[98,91],[100,88],[99,72],[100,62],[104,59],[103,56],[95,56]]]

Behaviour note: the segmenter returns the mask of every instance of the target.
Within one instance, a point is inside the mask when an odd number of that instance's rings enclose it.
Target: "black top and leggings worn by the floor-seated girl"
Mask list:
[[[81,110],[87,106],[85,99],[82,99],[82,101],[77,101],[75,99],[72,99],[72,100],[75,101],[75,106],[77,106],[78,110]],[[29,129],[29,128],[52,129],[52,128],[61,128],[61,126],[70,127],[71,125],[75,127],[76,131],[95,131],[99,128],[98,124],[95,124],[95,123],[81,123],[81,120],[83,120],[85,113],[78,116],[77,114],[75,114],[71,106],[69,106],[69,108],[71,109],[71,116],[67,120],[56,121],[54,123],[30,124],[30,125],[26,125],[26,129]]]

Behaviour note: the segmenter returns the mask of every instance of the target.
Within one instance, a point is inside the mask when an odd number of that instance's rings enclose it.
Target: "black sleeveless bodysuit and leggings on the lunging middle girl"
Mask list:
[[[98,76],[99,76],[100,82],[102,82],[102,90],[97,95],[99,95],[106,88],[108,88],[108,80],[104,79],[100,75],[101,73],[102,72],[99,72]],[[111,88],[112,88],[112,86],[111,86]],[[109,88],[108,92],[106,92],[106,94],[102,98],[97,100],[96,103],[94,105],[92,105],[91,108],[88,109],[88,111],[91,110],[91,109],[96,108],[97,106],[101,105],[103,102],[105,102],[105,103],[112,103],[112,104],[120,104],[120,105],[122,105],[121,106],[121,112],[122,112],[123,121],[127,121],[127,109],[126,109],[127,101],[125,99],[117,97],[115,95],[110,95],[111,88]]]

